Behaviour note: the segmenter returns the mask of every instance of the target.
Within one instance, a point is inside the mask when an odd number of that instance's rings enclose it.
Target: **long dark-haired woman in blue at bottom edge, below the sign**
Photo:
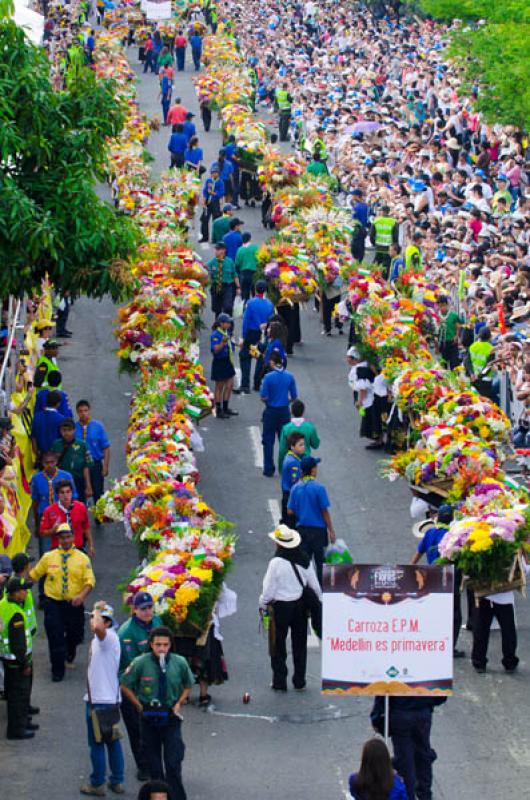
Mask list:
[[[408,800],[405,784],[394,772],[382,739],[365,742],[361,768],[350,775],[349,784],[354,800]]]

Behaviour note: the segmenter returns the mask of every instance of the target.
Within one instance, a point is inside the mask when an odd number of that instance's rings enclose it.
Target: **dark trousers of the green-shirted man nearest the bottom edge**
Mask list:
[[[186,800],[182,785],[182,762],[185,746],[180,731],[181,722],[169,725],[150,725],[142,722],[142,738],[152,780],[167,781],[171,800]]]

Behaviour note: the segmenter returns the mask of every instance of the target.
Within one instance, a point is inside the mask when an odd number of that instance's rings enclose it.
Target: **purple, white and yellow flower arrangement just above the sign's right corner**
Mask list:
[[[529,533],[527,512],[506,509],[465,517],[450,525],[439,545],[440,556],[471,578],[482,593],[493,593],[507,588],[514,558],[528,546]]]

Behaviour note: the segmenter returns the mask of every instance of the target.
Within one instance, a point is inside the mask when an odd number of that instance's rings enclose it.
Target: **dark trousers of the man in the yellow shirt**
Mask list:
[[[68,600],[52,600],[47,597],[44,605],[44,628],[48,637],[52,675],[63,678],[65,662],[72,663],[77,646],[83,641],[85,607],[73,606]]]

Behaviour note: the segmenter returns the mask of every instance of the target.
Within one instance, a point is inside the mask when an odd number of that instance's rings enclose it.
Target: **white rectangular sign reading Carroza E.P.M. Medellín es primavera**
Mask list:
[[[328,566],[323,588],[323,692],[452,693],[452,567]]]

